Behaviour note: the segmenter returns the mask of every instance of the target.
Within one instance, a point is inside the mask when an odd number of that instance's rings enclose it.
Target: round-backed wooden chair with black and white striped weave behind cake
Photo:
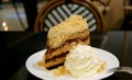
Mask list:
[[[70,14],[79,14],[88,22],[90,32],[106,31],[103,15],[87,0],[50,0],[40,10],[34,24],[35,31],[48,31],[50,27],[67,19]]]

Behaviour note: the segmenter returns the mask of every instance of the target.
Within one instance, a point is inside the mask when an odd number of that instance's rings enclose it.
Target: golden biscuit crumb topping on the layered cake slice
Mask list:
[[[58,25],[50,28],[47,34],[47,45],[56,48],[64,43],[68,37],[77,32],[88,31],[88,24],[80,15],[70,15]]]

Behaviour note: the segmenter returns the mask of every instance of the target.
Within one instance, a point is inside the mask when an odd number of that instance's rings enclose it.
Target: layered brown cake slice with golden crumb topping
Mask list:
[[[78,44],[90,44],[88,24],[80,15],[70,15],[48,31],[45,67],[52,69],[63,65],[72,47]]]

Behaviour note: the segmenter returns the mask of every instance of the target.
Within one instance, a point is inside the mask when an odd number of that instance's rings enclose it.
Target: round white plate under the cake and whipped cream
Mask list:
[[[94,76],[92,78],[76,79],[68,75],[61,76],[61,77],[54,77],[53,73],[46,72],[44,68],[40,68],[36,65],[37,61],[41,61],[43,59],[43,56],[44,56],[44,53],[46,52],[46,49],[31,55],[28,58],[25,66],[26,66],[26,69],[32,75],[34,75],[35,77],[37,77],[40,79],[44,79],[44,80],[100,80],[100,79],[103,79],[103,78],[107,78],[107,77],[113,75],[113,72],[107,73],[106,70],[108,70],[110,68],[119,67],[118,58],[114,55],[112,55],[111,53],[106,52],[103,49],[100,49],[100,48],[95,48],[95,49],[99,53],[100,57],[107,61],[107,68],[105,69],[103,72],[101,72],[97,76]]]

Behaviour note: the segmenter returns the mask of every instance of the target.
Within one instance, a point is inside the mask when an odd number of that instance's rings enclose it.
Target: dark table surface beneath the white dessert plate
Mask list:
[[[132,32],[127,53],[123,52],[123,31],[90,33],[91,46],[116,55],[121,66],[132,67]],[[0,80],[40,80],[25,68],[26,59],[45,49],[45,32],[0,32]],[[103,80],[132,80],[132,75],[116,72]]]

